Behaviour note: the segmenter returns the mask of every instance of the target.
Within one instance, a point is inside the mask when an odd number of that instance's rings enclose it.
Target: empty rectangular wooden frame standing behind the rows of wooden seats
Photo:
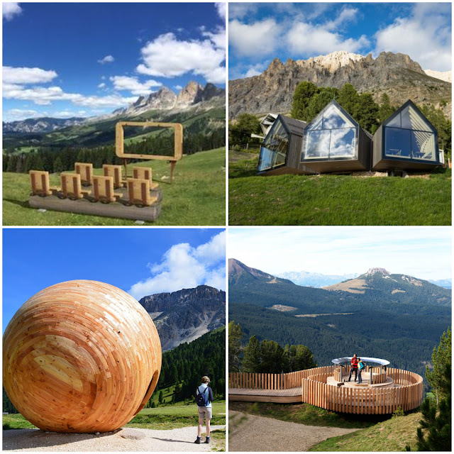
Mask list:
[[[172,156],[165,155],[136,155],[125,153],[123,126],[143,126],[143,128],[172,128],[174,130],[174,153]],[[181,123],[155,123],[153,121],[118,121],[115,126],[115,154],[126,159],[145,159],[178,161],[183,157],[183,125]]]

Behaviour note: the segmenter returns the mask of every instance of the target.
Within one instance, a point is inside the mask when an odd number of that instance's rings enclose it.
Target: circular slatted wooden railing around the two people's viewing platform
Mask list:
[[[420,375],[406,370],[387,370],[394,380],[394,387],[335,387],[321,380],[318,371],[302,380],[302,401],[323,409],[355,414],[389,414],[400,406],[404,411],[421,404],[423,379]],[[322,374],[323,375],[323,374]],[[396,386],[397,385],[397,386]]]

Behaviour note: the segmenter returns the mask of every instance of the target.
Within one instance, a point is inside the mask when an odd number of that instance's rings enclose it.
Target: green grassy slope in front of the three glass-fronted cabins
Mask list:
[[[451,171],[429,177],[350,175],[256,177],[258,157],[229,162],[228,216],[238,225],[451,223]]]

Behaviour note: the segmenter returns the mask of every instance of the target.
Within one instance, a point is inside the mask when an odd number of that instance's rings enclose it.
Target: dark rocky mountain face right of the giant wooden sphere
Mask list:
[[[226,324],[226,292],[199,285],[139,301],[155,322],[162,350],[191,342]]]

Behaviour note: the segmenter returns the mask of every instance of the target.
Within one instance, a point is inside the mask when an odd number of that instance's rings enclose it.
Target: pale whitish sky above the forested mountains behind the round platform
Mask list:
[[[270,274],[360,275],[379,267],[420,279],[450,279],[451,228],[230,228],[228,257]]]

